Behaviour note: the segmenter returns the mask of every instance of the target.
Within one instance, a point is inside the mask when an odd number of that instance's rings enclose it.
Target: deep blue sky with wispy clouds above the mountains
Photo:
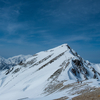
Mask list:
[[[0,0],[0,56],[64,43],[100,63],[100,0]]]

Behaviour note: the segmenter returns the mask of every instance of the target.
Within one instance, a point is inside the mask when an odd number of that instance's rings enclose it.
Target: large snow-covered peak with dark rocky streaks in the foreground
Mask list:
[[[71,99],[100,87],[99,80],[100,65],[63,44],[1,71],[0,100]]]

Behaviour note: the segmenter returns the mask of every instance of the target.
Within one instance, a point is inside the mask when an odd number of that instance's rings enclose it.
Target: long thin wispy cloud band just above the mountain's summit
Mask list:
[[[53,44],[63,44],[63,43],[74,43],[77,41],[89,42],[93,39],[92,36],[87,36],[85,34],[79,35],[64,35],[61,37],[56,37],[51,34],[42,34],[43,44],[53,45]]]

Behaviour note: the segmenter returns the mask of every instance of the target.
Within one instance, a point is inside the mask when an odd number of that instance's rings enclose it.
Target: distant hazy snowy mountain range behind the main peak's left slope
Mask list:
[[[20,62],[26,61],[32,55],[18,55],[8,59],[0,57],[0,70],[9,69],[12,66],[19,64]]]

